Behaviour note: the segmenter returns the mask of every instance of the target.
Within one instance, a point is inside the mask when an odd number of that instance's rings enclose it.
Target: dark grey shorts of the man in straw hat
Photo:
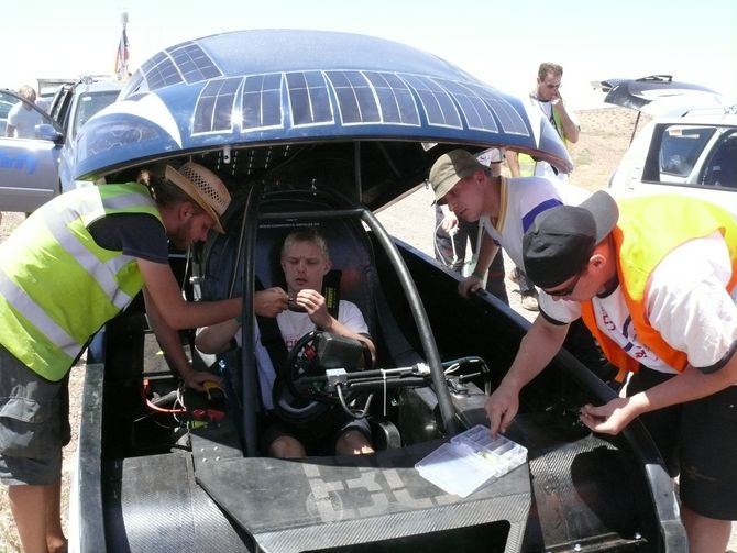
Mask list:
[[[0,482],[55,483],[69,443],[69,375],[48,381],[0,345]]]

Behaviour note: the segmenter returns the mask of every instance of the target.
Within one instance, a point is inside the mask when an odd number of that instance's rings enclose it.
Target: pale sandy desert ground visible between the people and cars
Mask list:
[[[571,175],[571,181],[590,190],[606,188],[609,175],[616,168],[618,161],[625,153],[632,129],[635,125],[635,113],[622,108],[602,108],[579,112],[581,123],[581,139],[571,148],[571,155],[575,169]],[[640,121],[640,126],[644,124]],[[432,193],[422,187],[411,196],[405,198],[380,213],[380,220],[388,231],[406,242],[415,245],[421,251],[432,254],[432,235],[435,225],[435,211],[431,207]],[[20,213],[2,213],[0,222],[0,241],[20,224],[23,215]],[[516,287],[508,283],[509,298],[513,307],[524,317],[531,319],[535,313],[525,311],[519,307]],[[77,425],[80,412],[80,389],[84,380],[84,366],[73,368],[70,375],[70,412],[73,425],[72,443],[65,449],[64,474],[63,474],[63,498],[64,518],[66,518],[66,505],[68,501],[72,468],[77,443]],[[733,532],[729,542],[729,551],[737,551],[737,535]],[[8,504],[7,488],[0,488],[0,553],[20,552],[20,543],[13,526],[10,506]]]

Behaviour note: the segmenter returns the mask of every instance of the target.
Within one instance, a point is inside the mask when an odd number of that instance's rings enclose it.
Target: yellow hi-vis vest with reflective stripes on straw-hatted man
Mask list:
[[[0,244],[0,343],[48,380],[61,380],[143,287],[135,258],[100,247],[89,233],[113,213],[162,221],[143,185],[102,185],[56,197]]]

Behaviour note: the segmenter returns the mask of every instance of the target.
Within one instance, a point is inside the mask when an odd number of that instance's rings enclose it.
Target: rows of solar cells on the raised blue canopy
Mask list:
[[[528,135],[522,118],[492,88],[404,73],[326,69],[227,77],[196,43],[143,67],[150,90],[206,81],[193,134],[316,125],[407,125]],[[464,126],[465,125],[465,126]]]

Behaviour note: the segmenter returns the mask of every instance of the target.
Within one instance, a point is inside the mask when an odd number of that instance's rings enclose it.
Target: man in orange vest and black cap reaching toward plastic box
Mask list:
[[[737,519],[735,218],[685,196],[598,191],[539,214],[522,250],[540,316],[486,402],[492,433],[583,319],[620,377],[632,374],[626,397],[584,406],[581,421],[617,434],[639,418],[680,474],[689,551],[725,551]]]

